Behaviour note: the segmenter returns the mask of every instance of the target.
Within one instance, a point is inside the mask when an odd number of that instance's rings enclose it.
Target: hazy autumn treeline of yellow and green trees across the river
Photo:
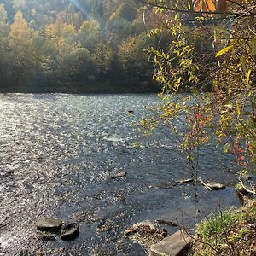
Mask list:
[[[143,51],[157,44],[147,36],[145,8],[124,0],[0,0],[0,90],[156,90]]]

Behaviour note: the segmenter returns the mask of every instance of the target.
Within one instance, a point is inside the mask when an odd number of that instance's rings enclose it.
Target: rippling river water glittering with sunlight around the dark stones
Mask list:
[[[0,94],[1,256],[146,255],[123,238],[131,224],[164,218],[190,228],[240,204],[234,159],[211,145],[196,172],[226,189],[198,186],[195,203],[192,184],[170,185],[191,177],[191,168],[175,137],[160,129],[145,137],[132,125],[148,115],[148,104],[157,105],[157,96]],[[114,170],[127,175],[112,179]],[[35,223],[48,217],[79,222],[79,237],[42,241]]]

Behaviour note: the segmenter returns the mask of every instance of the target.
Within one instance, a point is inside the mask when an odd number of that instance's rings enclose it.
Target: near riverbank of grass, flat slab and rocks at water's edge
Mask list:
[[[144,221],[126,230],[125,236],[142,243],[150,256],[249,256],[256,255],[255,231],[254,198],[243,207],[212,213],[195,225],[194,232],[180,225],[167,236],[165,229]]]

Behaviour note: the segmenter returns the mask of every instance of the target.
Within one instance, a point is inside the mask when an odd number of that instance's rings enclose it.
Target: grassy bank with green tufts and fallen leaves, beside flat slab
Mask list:
[[[193,256],[256,256],[256,201],[211,215],[196,226]]]

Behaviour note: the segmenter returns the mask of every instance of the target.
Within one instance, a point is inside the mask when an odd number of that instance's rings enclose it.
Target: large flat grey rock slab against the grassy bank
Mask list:
[[[150,256],[183,256],[188,252],[193,239],[184,230],[178,230],[172,236],[154,244],[149,249]]]

